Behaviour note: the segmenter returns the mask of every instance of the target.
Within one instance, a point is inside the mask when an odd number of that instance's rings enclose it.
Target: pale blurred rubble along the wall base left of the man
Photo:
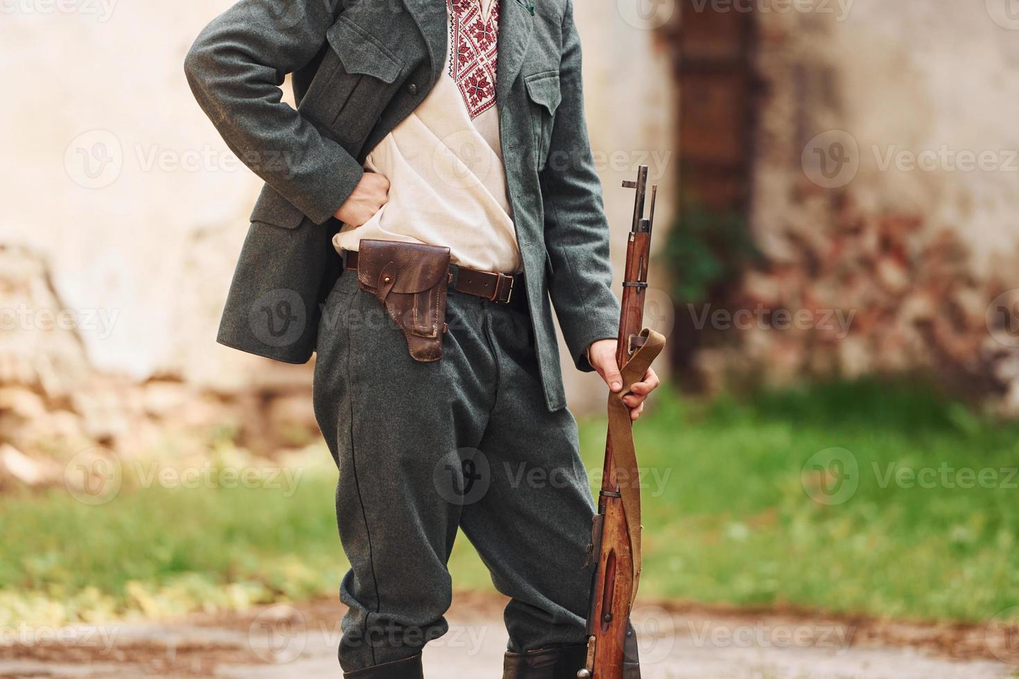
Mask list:
[[[173,375],[139,383],[92,366],[64,308],[40,258],[0,246],[0,491],[63,484],[68,461],[92,450],[275,457],[316,440],[310,366],[267,360],[233,391]]]

